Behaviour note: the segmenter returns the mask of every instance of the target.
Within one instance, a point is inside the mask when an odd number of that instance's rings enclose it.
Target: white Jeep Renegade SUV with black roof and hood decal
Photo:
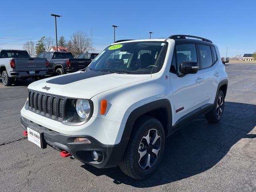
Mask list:
[[[30,84],[21,124],[41,148],[143,179],[160,163],[167,136],[201,114],[220,121],[227,87],[210,40],[123,40],[84,70]]]

